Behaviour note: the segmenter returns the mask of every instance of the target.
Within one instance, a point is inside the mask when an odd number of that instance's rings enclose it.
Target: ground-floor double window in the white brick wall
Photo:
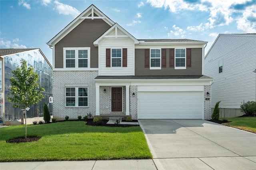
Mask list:
[[[88,87],[66,87],[66,107],[88,107]]]

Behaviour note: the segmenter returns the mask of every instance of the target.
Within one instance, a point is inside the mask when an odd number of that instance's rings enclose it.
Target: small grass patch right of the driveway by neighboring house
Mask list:
[[[223,123],[223,125],[256,133],[256,117],[232,117],[221,119],[227,119],[228,121],[231,121],[229,123]]]

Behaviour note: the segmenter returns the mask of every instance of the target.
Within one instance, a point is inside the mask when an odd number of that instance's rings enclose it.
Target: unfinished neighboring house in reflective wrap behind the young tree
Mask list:
[[[42,117],[44,103],[49,103],[49,97],[52,97],[52,65],[48,62],[39,48],[26,49],[0,49],[0,121],[18,120],[21,121],[22,113],[18,108],[13,108],[12,103],[8,101],[7,96],[10,93],[10,77],[13,76],[12,70],[20,67],[20,61],[24,59],[28,66],[32,65],[34,71],[39,75],[39,83],[44,87],[45,95],[42,101],[30,106],[27,117]],[[49,107],[52,113],[52,107]],[[14,124],[10,124],[14,125]]]

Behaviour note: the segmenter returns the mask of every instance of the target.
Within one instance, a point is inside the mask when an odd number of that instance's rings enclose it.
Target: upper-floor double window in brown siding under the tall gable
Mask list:
[[[90,47],[64,47],[64,68],[90,68]]]

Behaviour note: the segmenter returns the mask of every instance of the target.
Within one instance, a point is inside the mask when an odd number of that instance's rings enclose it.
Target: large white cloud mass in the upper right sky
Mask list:
[[[251,9],[251,12],[255,14],[256,4],[253,4],[254,1],[255,0],[251,2],[248,0],[147,0],[147,3],[154,8],[164,8],[174,13],[179,13],[182,10],[190,10],[207,12],[209,14],[207,22],[199,26],[190,26],[187,28],[188,30],[204,31],[209,28],[215,28],[216,26],[229,25],[234,20],[237,20],[237,24],[239,24],[237,26],[238,30],[253,31],[255,30],[255,22],[253,21],[256,20],[256,17],[252,17],[251,20],[248,20],[246,17],[241,17],[241,8],[246,11]],[[253,14],[251,14],[251,16],[253,16]],[[243,24],[246,25],[244,26]]]

